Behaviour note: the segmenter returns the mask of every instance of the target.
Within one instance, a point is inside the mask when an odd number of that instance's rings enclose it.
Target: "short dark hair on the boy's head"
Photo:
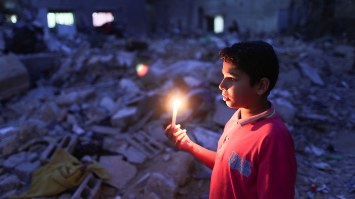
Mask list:
[[[220,51],[221,59],[250,76],[250,85],[254,86],[261,78],[270,81],[266,94],[274,88],[279,70],[279,63],[272,46],[266,42],[240,42]]]

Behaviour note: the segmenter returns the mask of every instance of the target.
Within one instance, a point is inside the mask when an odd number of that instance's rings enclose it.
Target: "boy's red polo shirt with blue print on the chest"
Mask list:
[[[210,199],[293,199],[297,162],[292,135],[273,104],[240,118],[238,109],[218,142]]]

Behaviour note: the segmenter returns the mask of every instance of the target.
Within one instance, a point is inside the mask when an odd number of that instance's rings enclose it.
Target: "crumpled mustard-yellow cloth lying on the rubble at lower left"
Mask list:
[[[109,179],[110,173],[95,162],[83,164],[63,149],[58,149],[50,162],[33,172],[29,189],[9,199],[54,196],[81,184],[84,178],[94,172],[101,179]]]

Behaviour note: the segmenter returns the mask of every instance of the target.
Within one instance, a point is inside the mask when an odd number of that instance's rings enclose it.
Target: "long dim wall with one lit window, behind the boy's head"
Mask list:
[[[224,31],[235,20],[241,31],[286,32],[304,39],[324,35],[355,37],[353,1],[148,1],[150,24],[161,32],[210,30],[210,20],[224,17]],[[152,28],[151,28],[152,29]],[[159,32],[159,31],[158,31]]]

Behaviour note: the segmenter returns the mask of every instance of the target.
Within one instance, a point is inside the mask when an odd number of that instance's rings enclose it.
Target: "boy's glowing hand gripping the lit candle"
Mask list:
[[[193,142],[186,134],[186,129],[182,130],[180,127],[180,125],[175,125],[174,129],[172,129],[170,124],[166,127],[164,134],[168,138],[171,146],[189,152],[192,150]]]

